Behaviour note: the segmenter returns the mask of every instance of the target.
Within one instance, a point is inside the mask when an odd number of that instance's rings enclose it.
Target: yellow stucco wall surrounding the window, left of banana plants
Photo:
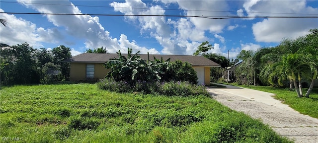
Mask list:
[[[86,65],[94,65],[94,79],[102,79],[107,72],[102,63],[71,63],[71,81],[86,80]]]

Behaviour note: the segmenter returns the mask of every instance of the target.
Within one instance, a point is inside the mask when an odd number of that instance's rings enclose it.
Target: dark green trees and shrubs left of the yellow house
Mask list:
[[[34,49],[27,43],[1,44],[1,84],[37,84],[67,80],[70,76],[70,48],[59,46],[48,51]],[[55,73],[52,73],[55,71]],[[58,72],[58,73],[57,73]]]

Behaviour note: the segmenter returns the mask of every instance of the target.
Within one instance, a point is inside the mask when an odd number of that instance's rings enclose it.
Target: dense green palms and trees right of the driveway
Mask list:
[[[243,60],[240,67],[244,68],[237,70],[243,72],[236,73],[239,76],[238,82],[242,84],[241,79],[244,79],[249,80],[245,82],[246,85],[254,83],[254,85],[273,86],[286,86],[285,83],[289,83],[290,90],[295,88],[298,97],[309,97],[318,75],[317,31],[311,29],[311,33],[306,36],[284,39],[276,47],[261,48],[255,53],[242,50],[238,58]],[[246,71],[245,68],[248,70]],[[251,76],[253,82],[250,80]],[[301,90],[305,81],[310,81],[310,88],[303,95]]]

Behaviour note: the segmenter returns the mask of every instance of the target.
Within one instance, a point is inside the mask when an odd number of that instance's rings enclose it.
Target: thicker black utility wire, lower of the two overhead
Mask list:
[[[95,16],[165,16],[165,17],[198,17],[208,19],[232,18],[318,18],[318,16],[195,16],[195,15],[141,15],[141,14],[83,14],[83,13],[32,13],[32,12],[0,12],[6,14],[39,14],[39,15],[95,15]]]

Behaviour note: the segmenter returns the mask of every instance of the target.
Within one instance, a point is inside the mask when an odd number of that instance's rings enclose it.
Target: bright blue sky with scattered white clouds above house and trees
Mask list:
[[[318,1],[308,0],[1,0],[0,12],[140,14],[194,16],[318,16]],[[210,53],[235,58],[241,50],[274,47],[318,28],[318,18],[207,19],[167,16],[6,14],[0,42],[34,48],[65,45],[72,55],[106,47],[146,54],[192,55],[204,41]]]

